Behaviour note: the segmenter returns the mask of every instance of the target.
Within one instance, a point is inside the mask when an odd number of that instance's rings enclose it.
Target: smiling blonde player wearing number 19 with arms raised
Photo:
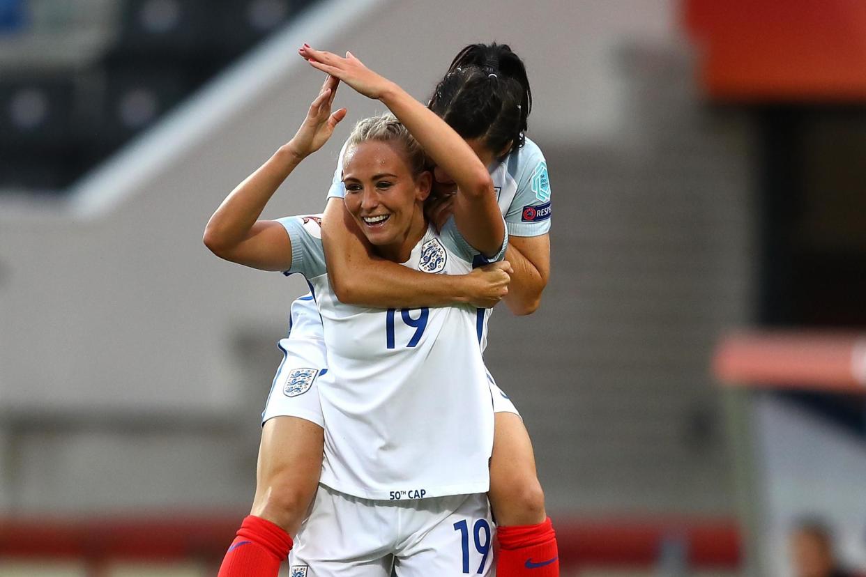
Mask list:
[[[344,80],[403,123],[366,119],[352,132],[344,180],[356,226],[381,257],[427,272],[469,272],[478,255],[501,260],[505,224],[475,152],[433,112],[355,62]],[[398,575],[447,575],[460,574],[460,567],[469,573],[471,563],[473,573],[489,574],[491,518],[483,491],[494,417],[475,309],[397,315],[341,303],[327,278],[317,219],[257,220],[282,180],[345,116],[330,114],[331,93],[323,88],[295,137],[226,198],[205,231],[208,247],[224,259],[303,272],[323,319],[328,369],[311,368],[290,383],[309,388],[319,376],[328,433],[322,489],[301,529],[293,570],[388,577],[393,562]],[[454,217],[440,233],[423,214],[431,184],[424,151],[455,176],[459,190]],[[275,536],[262,533],[254,536],[264,542]],[[245,539],[239,535],[232,548],[255,543]]]

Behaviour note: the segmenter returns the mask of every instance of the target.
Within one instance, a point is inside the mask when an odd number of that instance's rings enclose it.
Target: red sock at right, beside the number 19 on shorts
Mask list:
[[[559,577],[559,550],[550,517],[537,525],[498,527],[498,577]]]

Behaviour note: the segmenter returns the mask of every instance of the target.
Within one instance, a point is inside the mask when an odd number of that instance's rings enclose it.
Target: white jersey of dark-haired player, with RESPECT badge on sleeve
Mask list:
[[[346,144],[339,151],[328,198],[346,196],[343,186],[343,153],[346,152]],[[523,146],[496,161],[489,170],[508,235],[547,234],[551,221],[550,181],[547,178],[547,162],[538,144],[527,138]],[[487,262],[477,258],[474,264],[478,266]],[[488,322],[492,313],[493,309],[478,309],[476,312],[476,330],[481,350],[487,348]]]

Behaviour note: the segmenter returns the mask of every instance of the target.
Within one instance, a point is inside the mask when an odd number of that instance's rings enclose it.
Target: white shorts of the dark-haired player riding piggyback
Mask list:
[[[268,402],[262,412],[262,425],[274,417],[299,417],[325,428],[325,418],[319,402],[318,377],[326,369],[325,342],[318,338],[284,338],[277,345],[283,352],[276,369]],[[514,413],[517,407],[496,384],[488,371],[490,398],[494,413]]]

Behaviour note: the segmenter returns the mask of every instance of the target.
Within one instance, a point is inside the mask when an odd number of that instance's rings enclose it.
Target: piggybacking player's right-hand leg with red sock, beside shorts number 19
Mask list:
[[[499,577],[557,577],[556,534],[544,507],[526,426],[507,396],[491,383],[495,431],[488,497],[499,528]]]

